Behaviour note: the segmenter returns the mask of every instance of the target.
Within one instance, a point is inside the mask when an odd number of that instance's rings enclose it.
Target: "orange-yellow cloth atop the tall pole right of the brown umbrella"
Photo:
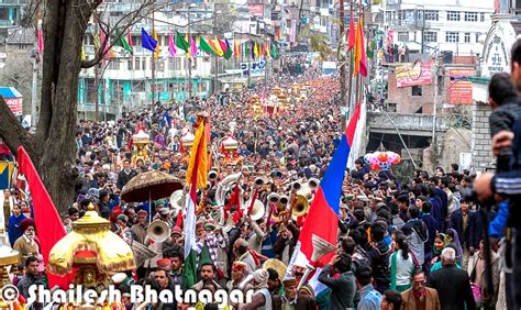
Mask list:
[[[196,134],[190,150],[190,160],[187,169],[187,184],[192,184],[192,178],[197,178],[197,188],[207,188],[208,178],[208,151],[207,134],[204,133],[207,120],[198,117],[196,124]]]

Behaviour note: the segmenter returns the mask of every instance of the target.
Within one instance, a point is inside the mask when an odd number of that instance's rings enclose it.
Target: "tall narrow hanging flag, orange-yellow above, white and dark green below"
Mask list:
[[[207,141],[204,121],[198,120],[196,136],[193,137],[192,153],[188,163],[187,182],[190,191],[187,195],[187,218],[185,221],[185,267],[182,273],[187,287],[196,284],[197,279],[197,247],[196,247],[196,202],[197,188],[207,187]],[[204,182],[204,185],[202,185]]]

